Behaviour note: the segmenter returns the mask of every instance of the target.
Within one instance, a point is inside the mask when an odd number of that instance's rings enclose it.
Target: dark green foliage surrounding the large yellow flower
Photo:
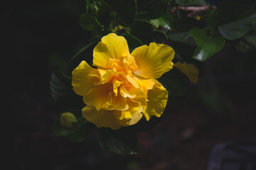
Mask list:
[[[174,62],[190,62],[199,65],[208,60],[225,45],[235,45],[240,52],[256,50],[256,8],[235,1],[223,1],[217,8],[205,0],[77,0],[80,26],[90,34],[86,45],[69,63],[72,72],[82,60],[92,64],[92,50],[102,36],[116,33],[126,38],[129,50],[149,42],[166,43],[176,52]],[[188,17],[188,11],[179,6],[208,6],[208,10]],[[196,16],[200,16],[198,20]],[[168,89],[169,95],[185,94],[188,84],[186,76],[178,69],[172,69],[159,79]],[[82,98],[77,96],[71,86],[71,79],[60,72],[53,72],[50,82],[52,96],[63,103],[65,109],[80,110]],[[53,127],[52,135],[65,136],[72,142],[81,142],[97,131],[99,145],[118,154],[137,153],[137,132],[149,130],[157,121],[147,123],[141,120],[137,125],[110,130],[95,128],[80,118],[75,128],[60,125]]]

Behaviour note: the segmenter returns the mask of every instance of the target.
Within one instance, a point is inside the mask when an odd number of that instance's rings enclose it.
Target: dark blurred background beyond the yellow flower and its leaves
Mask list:
[[[63,113],[50,96],[50,74],[68,68],[89,34],[79,26],[75,1],[9,1],[2,8],[9,169],[207,169],[215,145],[255,139],[256,55],[233,45],[203,64],[186,95],[169,98],[162,123],[138,135],[138,155],[104,151],[93,135],[81,143],[50,136]]]

